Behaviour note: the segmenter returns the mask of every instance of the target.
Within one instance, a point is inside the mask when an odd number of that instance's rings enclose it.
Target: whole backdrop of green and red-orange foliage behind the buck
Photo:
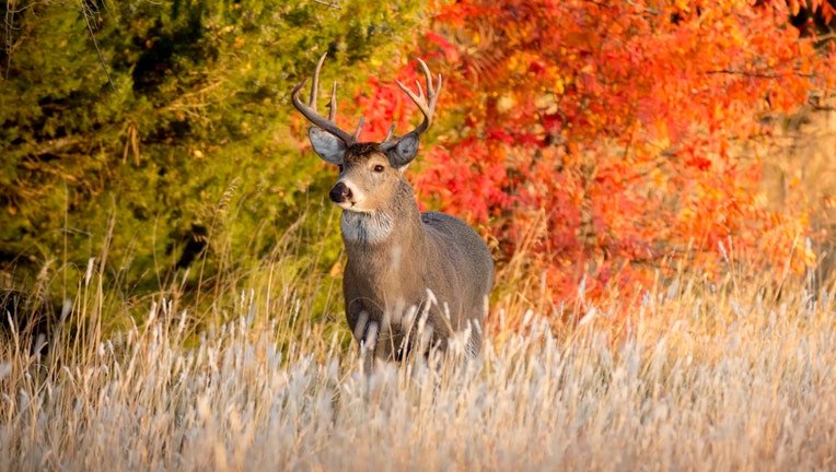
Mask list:
[[[220,314],[228,281],[287,252],[282,276],[332,287],[335,172],[289,106],[325,51],[341,119],[364,115],[367,140],[409,126],[393,84],[417,78],[416,58],[444,75],[410,174],[425,208],[489,239],[501,306],[561,319],[566,300],[682,271],[715,283],[739,262],[776,286],[826,275],[833,167],[825,155],[810,173],[816,152],[793,154],[806,138],[791,133],[831,104],[832,14],[818,1],[7,2],[5,298],[55,317],[95,267],[108,323],[162,297]]]

